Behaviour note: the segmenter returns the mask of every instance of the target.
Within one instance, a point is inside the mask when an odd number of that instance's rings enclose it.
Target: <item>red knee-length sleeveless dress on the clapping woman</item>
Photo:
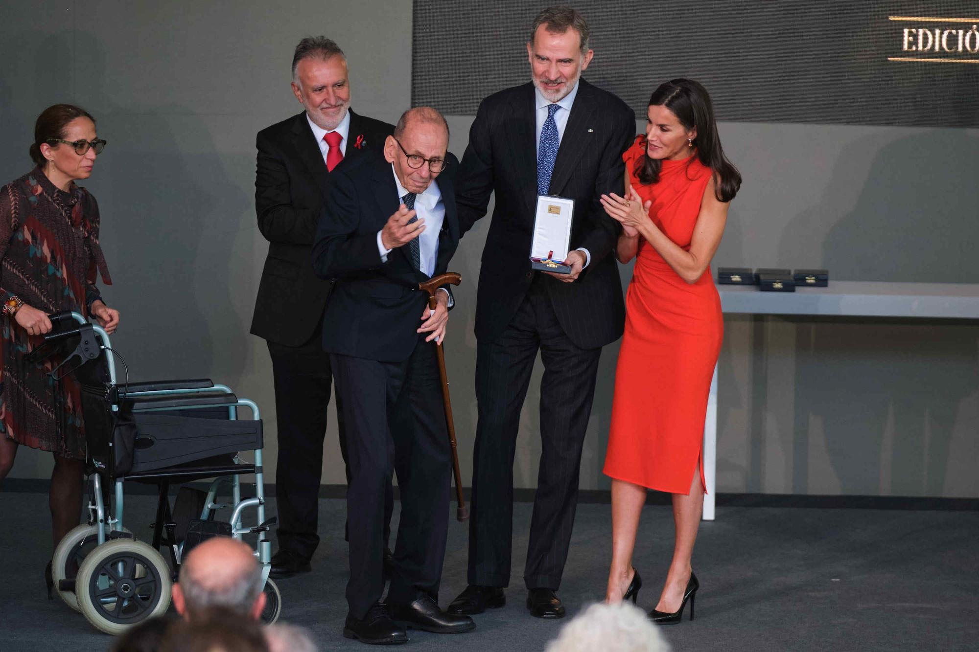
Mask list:
[[[689,250],[711,170],[692,157],[663,161],[660,180],[642,185],[635,166],[645,142],[639,136],[623,155],[630,183],[643,202],[652,200],[649,218]],[[689,284],[640,238],[616,367],[607,476],[685,494],[699,468],[703,485],[704,419],[722,339],[710,267]]]

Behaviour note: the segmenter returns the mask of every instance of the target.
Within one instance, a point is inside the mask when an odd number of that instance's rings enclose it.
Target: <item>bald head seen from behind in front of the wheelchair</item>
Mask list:
[[[257,621],[265,608],[261,568],[254,550],[228,536],[199,543],[180,564],[173,584],[173,606],[186,620],[199,620],[210,608],[220,607],[239,619]]]

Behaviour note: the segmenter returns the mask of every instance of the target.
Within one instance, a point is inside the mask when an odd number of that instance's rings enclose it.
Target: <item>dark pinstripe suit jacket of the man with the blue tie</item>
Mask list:
[[[542,276],[561,327],[577,346],[617,340],[626,308],[614,251],[618,222],[605,214],[602,193],[622,194],[622,161],[635,135],[635,114],[615,95],[582,79],[561,138],[548,194],[575,200],[571,248],[591,261],[574,283]],[[534,84],[499,91],[480,103],[469,131],[456,187],[462,233],[496,205],[480,268],[476,337],[492,341],[513,318],[530,287],[537,198]]]

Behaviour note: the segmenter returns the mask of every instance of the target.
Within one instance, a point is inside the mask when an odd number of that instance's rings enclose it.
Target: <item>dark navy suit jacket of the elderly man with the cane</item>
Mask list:
[[[451,154],[447,162],[433,181],[445,206],[437,276],[448,268],[459,243],[453,188],[458,162]],[[418,284],[429,277],[411,264],[406,246],[381,261],[377,232],[400,205],[391,163],[372,154],[334,170],[338,171],[331,179],[312,252],[316,274],[337,279],[323,319],[323,348],[371,360],[406,360],[418,343],[416,331],[428,302]]]

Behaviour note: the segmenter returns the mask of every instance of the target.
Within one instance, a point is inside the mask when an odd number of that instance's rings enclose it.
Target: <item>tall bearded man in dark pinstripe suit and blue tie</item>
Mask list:
[[[473,460],[469,586],[450,613],[505,602],[510,582],[513,458],[537,351],[541,456],[524,582],[534,616],[561,618],[556,595],[578,502],[584,433],[601,348],[623,332],[625,307],[612,256],[618,225],[599,204],[622,192],[635,115],[581,78],[588,26],[567,7],[542,11],[527,46],[533,83],[480,104],[459,172],[462,233],[489,224],[476,307],[479,426]],[[538,194],[575,200],[570,274],[535,272],[530,252]]]

